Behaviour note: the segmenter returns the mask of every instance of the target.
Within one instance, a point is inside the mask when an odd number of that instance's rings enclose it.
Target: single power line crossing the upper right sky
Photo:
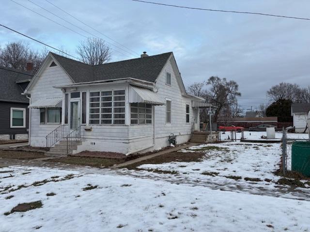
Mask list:
[[[142,0],[132,0],[132,1],[139,1],[139,2],[143,2],[143,3],[162,5],[162,6],[171,6],[171,7],[177,7],[177,8],[185,8],[185,9],[191,9],[191,10],[215,11],[215,12],[236,13],[236,14],[257,14],[257,15],[263,15],[263,16],[272,16],[272,17],[282,17],[282,18],[293,18],[293,19],[301,19],[301,20],[310,20],[310,18],[293,17],[293,16],[285,16],[285,15],[277,15],[277,14],[264,14],[264,13],[246,12],[246,11],[214,10],[214,9],[205,9],[205,8],[196,8],[196,7],[188,7],[188,6],[179,6],[179,5],[171,5],[171,4],[164,4],[164,3],[153,2],[153,1],[142,1]]]

